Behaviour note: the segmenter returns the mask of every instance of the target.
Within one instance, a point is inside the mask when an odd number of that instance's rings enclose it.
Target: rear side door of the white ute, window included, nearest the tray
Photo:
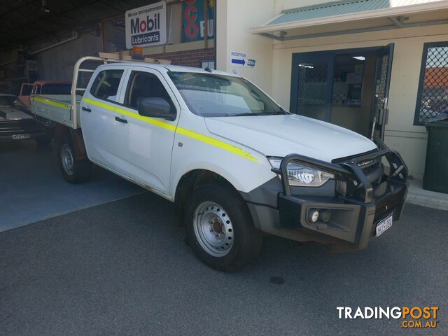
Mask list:
[[[116,112],[119,106],[121,87],[126,75],[125,67],[107,66],[94,73],[93,83],[87,86],[80,104],[80,122],[85,148],[90,160],[117,170]]]

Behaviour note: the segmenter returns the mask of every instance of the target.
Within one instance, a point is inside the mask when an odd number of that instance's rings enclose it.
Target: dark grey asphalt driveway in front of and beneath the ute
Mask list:
[[[172,204],[137,195],[0,233],[0,335],[447,335],[448,212],[407,205],[358,253],[267,237],[209,269]],[[339,306],[438,305],[434,330],[337,318]]]

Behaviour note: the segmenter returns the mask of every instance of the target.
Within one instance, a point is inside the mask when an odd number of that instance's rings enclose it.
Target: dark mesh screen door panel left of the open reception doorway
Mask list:
[[[290,111],[330,121],[334,54],[293,55]]]

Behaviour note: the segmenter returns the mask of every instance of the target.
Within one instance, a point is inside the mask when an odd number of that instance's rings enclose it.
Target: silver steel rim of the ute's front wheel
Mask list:
[[[215,202],[202,202],[193,218],[196,239],[214,257],[228,255],[233,246],[233,225],[228,212]]]

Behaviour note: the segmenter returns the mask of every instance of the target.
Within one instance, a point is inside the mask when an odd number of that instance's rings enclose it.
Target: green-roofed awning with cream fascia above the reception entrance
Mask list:
[[[448,0],[342,0],[283,10],[251,29],[276,40],[448,24]]]

